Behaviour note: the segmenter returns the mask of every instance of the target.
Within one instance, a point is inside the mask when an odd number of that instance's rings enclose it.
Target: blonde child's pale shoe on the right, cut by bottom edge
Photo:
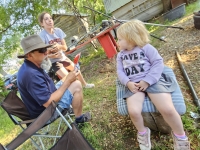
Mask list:
[[[179,139],[177,138],[173,132],[171,132],[174,142],[174,150],[190,150],[190,142],[188,138],[186,139]]]

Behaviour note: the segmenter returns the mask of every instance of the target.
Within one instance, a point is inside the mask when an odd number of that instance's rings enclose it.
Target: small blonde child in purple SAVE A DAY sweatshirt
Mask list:
[[[130,118],[138,130],[137,140],[141,150],[150,150],[150,129],[144,126],[141,115],[147,94],[165,121],[172,128],[175,150],[189,150],[181,118],[175,110],[171,92],[176,83],[162,74],[164,64],[158,51],[149,44],[149,34],[139,20],[124,23],[117,29],[118,46],[117,75],[127,86],[124,99],[127,101]]]

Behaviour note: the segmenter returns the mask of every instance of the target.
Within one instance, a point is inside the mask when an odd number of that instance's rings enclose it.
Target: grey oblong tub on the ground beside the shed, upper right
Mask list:
[[[181,18],[185,14],[185,3],[171,9],[170,11],[164,13],[162,18],[164,20],[173,21],[175,19]]]

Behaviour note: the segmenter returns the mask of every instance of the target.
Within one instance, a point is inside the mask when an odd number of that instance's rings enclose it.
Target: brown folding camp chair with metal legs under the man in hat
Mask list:
[[[7,95],[7,97],[4,99],[4,101],[1,103],[1,106],[8,113],[11,120],[16,125],[19,125],[23,129],[23,131],[5,147],[0,144],[0,150],[16,149],[18,146],[20,146],[29,138],[37,149],[39,150],[45,149],[43,141],[42,141],[42,138],[44,137],[54,138],[54,142],[52,144],[54,146],[52,147],[52,150],[60,150],[59,149],[60,147],[62,147],[61,148],[62,150],[65,150],[65,149],[78,150],[80,149],[79,146],[81,146],[81,149],[88,149],[88,150],[93,149],[92,146],[83,137],[83,135],[79,132],[77,127],[73,123],[70,125],[70,123],[63,116],[64,114],[65,116],[69,118],[70,122],[72,122],[72,119],[70,118],[67,111],[64,110],[61,113],[60,108],[57,108],[54,102],[52,102],[51,105],[49,105],[43,111],[43,113],[40,114],[40,116],[36,119],[31,119],[29,117],[28,111],[24,103],[21,101],[21,99],[16,95],[16,91],[11,91]],[[57,111],[57,113],[54,113],[55,111]],[[55,114],[58,114],[58,116],[56,116]],[[58,125],[56,135],[49,135],[49,130],[48,130],[49,128],[47,128],[48,131],[46,132],[42,132],[42,133],[38,132],[40,129],[43,129],[45,126],[50,125],[52,122],[54,122],[59,116],[60,116],[61,121]],[[20,118],[21,121],[16,119],[16,117]],[[61,125],[62,120],[68,126],[68,130],[63,135],[58,135],[58,131],[60,130],[60,125]],[[25,128],[23,124],[25,124],[27,128]],[[32,137],[38,137],[40,145]],[[56,141],[56,138],[60,138],[60,139]],[[74,139],[74,141],[76,142],[78,141],[78,143],[74,143],[72,139]]]

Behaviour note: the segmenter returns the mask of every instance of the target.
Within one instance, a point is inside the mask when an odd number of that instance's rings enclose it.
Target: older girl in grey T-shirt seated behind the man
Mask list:
[[[44,28],[39,34],[41,39],[46,44],[53,44],[53,48],[49,49],[51,52],[48,57],[51,60],[54,72],[62,79],[68,75],[68,71],[74,70],[74,63],[65,56],[63,51],[67,50],[67,45],[64,38],[66,34],[60,28],[54,28],[54,22],[49,13],[41,13],[38,17],[40,25]],[[62,63],[65,67],[59,67],[58,63]],[[84,80],[81,72],[77,77],[85,88],[93,88],[94,84],[88,84]]]

